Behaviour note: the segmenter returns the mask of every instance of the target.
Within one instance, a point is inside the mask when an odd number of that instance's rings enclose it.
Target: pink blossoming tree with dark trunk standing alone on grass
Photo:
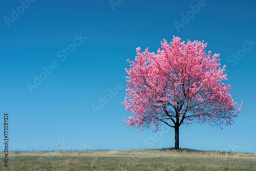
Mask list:
[[[123,104],[132,113],[129,126],[159,131],[160,123],[175,130],[175,148],[179,148],[181,124],[209,123],[214,126],[234,123],[241,105],[234,102],[224,84],[227,74],[220,67],[220,54],[206,54],[204,41],[181,42],[177,36],[170,44],[161,42],[157,54],[140,52],[125,69],[127,89]]]

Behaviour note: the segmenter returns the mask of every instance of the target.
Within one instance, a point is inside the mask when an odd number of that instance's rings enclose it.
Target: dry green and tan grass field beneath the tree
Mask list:
[[[10,152],[8,169],[2,164],[0,170],[256,170],[256,154],[191,149]]]

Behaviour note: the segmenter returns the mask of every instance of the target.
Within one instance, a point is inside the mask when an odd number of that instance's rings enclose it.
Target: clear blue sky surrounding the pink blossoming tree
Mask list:
[[[244,101],[223,130],[181,126],[180,147],[256,153],[254,1],[3,0],[0,8],[0,126],[8,113],[11,150],[173,147],[173,129],[127,126],[121,102],[126,59],[177,35],[220,53],[225,83]],[[44,80],[35,85],[35,77]]]

